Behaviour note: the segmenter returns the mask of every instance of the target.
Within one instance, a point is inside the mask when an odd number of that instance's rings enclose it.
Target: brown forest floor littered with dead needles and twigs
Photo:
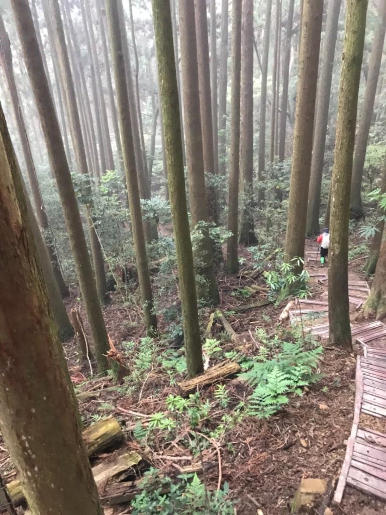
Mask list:
[[[316,253],[315,244],[307,242],[306,250],[311,249]],[[251,269],[251,255],[247,250],[241,250],[241,253],[244,258],[243,270]],[[350,279],[363,279],[362,266],[363,261],[360,260],[350,265]],[[308,265],[307,269],[310,272],[319,271],[319,264]],[[327,274],[328,268],[324,268],[323,271]],[[279,338],[286,337],[289,323],[285,321],[283,325],[279,325],[278,317],[287,301],[280,305],[271,304],[242,313],[232,312],[235,306],[264,298],[262,293],[257,293],[249,299],[238,296],[238,292],[241,295],[243,288],[252,284],[265,285],[261,276],[254,280],[243,274],[232,278],[223,274],[219,278],[220,309],[237,333],[237,340],[229,341],[221,334],[222,328],[215,321],[212,337],[217,337],[221,341],[223,351],[236,350],[246,356],[255,355],[260,345],[256,332],[258,329],[265,329],[271,336],[277,334]],[[325,297],[326,289],[325,284],[313,281],[312,290],[315,297]],[[77,304],[77,297],[73,295],[68,307]],[[207,311],[204,325],[210,312]],[[116,416],[121,425],[126,427],[127,445],[138,450],[140,454],[141,449],[145,450],[147,457],[151,456],[151,464],[162,472],[168,472],[172,468],[171,464],[183,467],[200,460],[213,462],[214,466],[205,473],[205,482],[209,488],[215,489],[220,470],[222,481],[229,483],[232,500],[237,501],[235,507],[238,515],[290,513],[294,494],[302,478],[330,479],[339,476],[353,420],[355,354],[361,352],[359,348],[356,348],[353,354],[347,354],[328,347],[327,340],[322,340],[324,352],[320,361],[320,372],[323,376],[318,383],[306,388],[302,397],[291,395],[289,403],[269,419],[244,418],[215,444],[208,443],[201,456],[196,456],[186,443],[188,430],[184,424],[176,430],[177,434],[172,442],[165,438],[161,431],[155,432],[151,440],[136,439],[133,427],[137,421],[144,422],[153,413],[168,412],[166,398],[170,394],[180,393],[176,380],[181,380],[182,375],[174,373],[174,380],[171,380],[170,372],[165,370],[163,362],[157,361],[156,355],[165,350],[164,341],[162,348],[156,347],[155,352],[154,342],[151,344],[152,350],[147,351],[150,349],[149,344],[144,343],[144,340],[140,341],[140,338],[145,336],[145,331],[138,308],[122,305],[119,295],[113,294],[112,302],[104,308],[104,316],[109,335],[117,349],[121,348],[121,342],[135,342],[131,352],[137,356],[137,361],[131,361],[129,368],[134,365],[143,366],[144,372],[137,374],[136,379],[124,387],[115,388],[110,377],[90,380],[87,366],[78,363],[75,342],[67,342],[64,346],[66,357],[77,391],[87,392],[109,387],[106,392],[99,392],[95,397],[80,402],[86,426],[99,418]],[[161,331],[166,325],[166,322],[160,319]],[[89,334],[86,324],[85,329]],[[147,366],[141,364],[141,359],[146,361],[144,352],[148,352]],[[210,358],[211,366],[215,362],[215,357]],[[229,396],[229,403],[225,407],[221,407],[214,396],[215,386],[203,388],[200,392],[201,402],[209,400],[214,406],[210,412],[210,420],[206,422],[213,428],[220,423],[224,414],[232,414],[234,406],[248,396],[250,390],[248,385],[237,377],[223,383],[226,384]],[[373,424],[373,420],[369,422],[370,427],[378,430],[381,430],[380,423],[382,424],[379,419],[378,426]],[[383,431],[386,432],[386,423],[383,425]],[[14,476],[12,463],[1,437],[0,474],[5,482]],[[332,507],[332,512],[334,515],[375,515],[385,513],[386,504],[347,486],[341,506]],[[130,513],[130,509],[121,506],[116,513]]]

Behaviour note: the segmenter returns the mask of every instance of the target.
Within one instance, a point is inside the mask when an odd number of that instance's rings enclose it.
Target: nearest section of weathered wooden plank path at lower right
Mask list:
[[[372,322],[353,333],[364,355],[357,357],[354,419],[335,491],[337,504],[342,501],[346,485],[386,500],[386,434],[360,425],[361,414],[386,420],[386,349],[366,345],[366,341],[386,334],[386,325]]]

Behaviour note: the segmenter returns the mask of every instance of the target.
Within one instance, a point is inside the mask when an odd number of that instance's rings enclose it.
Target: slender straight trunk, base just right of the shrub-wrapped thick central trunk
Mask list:
[[[240,157],[240,80],[241,80],[241,2],[232,3],[232,99],[231,99],[231,148],[229,163],[228,230],[231,236],[226,247],[228,273],[239,269],[237,257],[239,157]]]

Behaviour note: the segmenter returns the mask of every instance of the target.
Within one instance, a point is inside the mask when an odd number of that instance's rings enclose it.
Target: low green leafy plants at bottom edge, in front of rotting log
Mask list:
[[[167,492],[167,493],[165,493]],[[227,499],[229,486],[209,491],[197,474],[178,476],[173,484],[170,477],[151,469],[144,475],[143,491],[132,501],[133,515],[233,515],[234,508]]]

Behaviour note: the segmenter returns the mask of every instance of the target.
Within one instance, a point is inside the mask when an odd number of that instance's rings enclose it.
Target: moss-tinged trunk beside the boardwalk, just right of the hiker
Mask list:
[[[330,342],[352,348],[348,302],[348,224],[358,91],[363,58],[367,0],[347,3],[340,76],[334,167],[331,178],[331,224],[328,270]]]

